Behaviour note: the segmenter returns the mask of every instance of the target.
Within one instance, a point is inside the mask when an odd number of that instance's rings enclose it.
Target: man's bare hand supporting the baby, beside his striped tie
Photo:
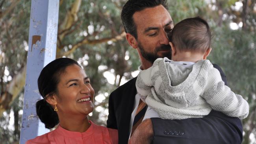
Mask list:
[[[150,144],[154,136],[151,119],[144,120],[134,131],[128,144]]]

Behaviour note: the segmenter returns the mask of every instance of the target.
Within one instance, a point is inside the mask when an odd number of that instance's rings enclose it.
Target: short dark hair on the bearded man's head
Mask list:
[[[130,33],[137,39],[137,30],[134,23],[133,15],[137,11],[142,11],[148,7],[156,7],[162,5],[168,10],[166,0],[128,0],[124,4],[121,13],[122,24],[126,33]]]

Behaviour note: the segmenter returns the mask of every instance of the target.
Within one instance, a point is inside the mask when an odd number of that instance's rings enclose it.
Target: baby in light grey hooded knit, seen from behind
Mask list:
[[[212,109],[246,118],[248,103],[224,85],[219,71],[206,59],[211,52],[208,23],[199,17],[187,18],[168,37],[172,60],[158,58],[137,77],[137,92],[152,108],[144,120],[200,118]]]

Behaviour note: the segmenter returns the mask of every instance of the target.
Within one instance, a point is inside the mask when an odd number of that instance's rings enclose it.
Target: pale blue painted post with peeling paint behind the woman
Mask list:
[[[45,65],[56,58],[59,0],[32,0],[27,57],[26,86],[20,144],[49,130],[36,116],[35,103],[42,97],[37,78]]]

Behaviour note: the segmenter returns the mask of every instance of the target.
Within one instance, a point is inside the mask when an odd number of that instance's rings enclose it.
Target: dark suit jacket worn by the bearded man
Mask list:
[[[221,68],[213,64],[226,83]],[[118,129],[119,144],[127,144],[130,119],[134,106],[136,78],[117,88],[109,96],[107,127]],[[154,144],[241,144],[243,127],[239,118],[212,110],[204,118],[162,120],[151,118]]]

